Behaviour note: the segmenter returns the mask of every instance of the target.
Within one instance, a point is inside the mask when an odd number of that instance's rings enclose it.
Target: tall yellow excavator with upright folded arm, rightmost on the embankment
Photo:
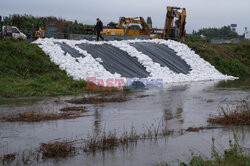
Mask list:
[[[181,12],[179,10],[182,10]],[[185,36],[186,9],[167,7],[163,39],[182,40]]]

